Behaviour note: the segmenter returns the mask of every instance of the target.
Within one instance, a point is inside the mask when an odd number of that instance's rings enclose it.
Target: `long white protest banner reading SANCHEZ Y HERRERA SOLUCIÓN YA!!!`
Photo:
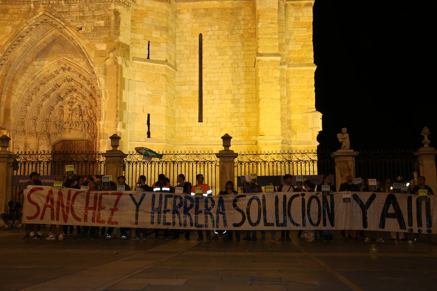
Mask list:
[[[434,197],[351,192],[197,196],[28,186],[23,222],[175,229],[352,229],[436,233]]]

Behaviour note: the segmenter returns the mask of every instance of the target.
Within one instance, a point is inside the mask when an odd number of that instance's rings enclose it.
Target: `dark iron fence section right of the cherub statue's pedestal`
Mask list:
[[[385,190],[398,181],[413,182],[418,173],[418,160],[412,149],[360,150],[355,158],[355,176],[377,179]]]

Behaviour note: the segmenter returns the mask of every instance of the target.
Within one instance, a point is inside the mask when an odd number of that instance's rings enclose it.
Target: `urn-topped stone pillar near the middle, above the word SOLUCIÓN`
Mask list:
[[[216,156],[218,158],[220,182],[219,190],[225,191],[225,185],[227,181],[233,181],[235,183],[235,158],[238,156],[238,154],[235,153],[233,150],[229,149],[229,147],[231,146],[232,136],[226,133],[221,137],[221,139],[223,140],[224,149],[218,151],[218,153],[216,153]]]

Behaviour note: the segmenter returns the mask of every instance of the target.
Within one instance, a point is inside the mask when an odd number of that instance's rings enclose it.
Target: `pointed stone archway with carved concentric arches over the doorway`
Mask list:
[[[41,61],[56,46],[67,52]],[[13,150],[50,150],[60,139],[97,144],[101,91],[86,46],[80,33],[48,11],[36,11],[3,44],[0,127],[10,130]]]

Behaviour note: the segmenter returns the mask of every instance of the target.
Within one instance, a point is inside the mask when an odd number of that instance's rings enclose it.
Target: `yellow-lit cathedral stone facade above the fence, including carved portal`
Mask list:
[[[107,150],[113,133],[125,152],[217,151],[224,133],[315,150],[312,6],[0,0],[0,131],[12,151]]]

